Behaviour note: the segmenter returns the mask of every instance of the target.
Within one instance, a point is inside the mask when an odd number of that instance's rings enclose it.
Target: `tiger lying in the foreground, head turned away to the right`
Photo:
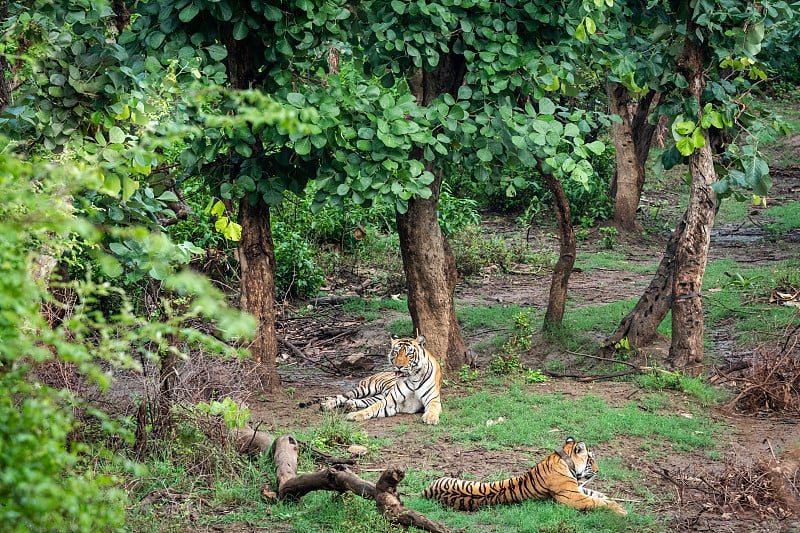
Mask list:
[[[563,446],[539,461],[521,476],[481,483],[451,477],[437,479],[422,492],[424,498],[438,500],[459,511],[475,511],[500,503],[553,498],[576,509],[610,507],[620,514],[628,512],[605,494],[584,487],[597,473],[594,454],[583,442],[568,438]]]

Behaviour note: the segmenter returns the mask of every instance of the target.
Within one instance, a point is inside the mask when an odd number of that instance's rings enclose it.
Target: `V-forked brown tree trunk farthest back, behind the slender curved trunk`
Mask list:
[[[638,231],[636,211],[642,198],[645,182],[645,162],[650,153],[655,125],[647,122],[656,94],[649,92],[635,104],[631,112],[631,96],[620,83],[608,84],[608,104],[611,113],[619,115],[622,123],[611,126],[611,138],[616,149],[616,167],[611,182],[614,198],[614,224],[627,232]]]

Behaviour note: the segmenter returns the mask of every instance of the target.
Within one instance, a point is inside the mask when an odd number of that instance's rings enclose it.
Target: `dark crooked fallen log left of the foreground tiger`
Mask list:
[[[297,475],[297,456],[300,443],[293,435],[282,435],[275,440],[273,460],[277,467],[278,491],[269,485],[262,488],[262,495],[280,500],[298,500],[315,490],[352,492],[375,500],[378,511],[387,520],[404,528],[415,527],[432,533],[451,533],[443,524],[434,522],[421,513],[409,509],[400,501],[397,484],[405,477],[400,469],[387,469],[381,474],[377,485],[361,479],[345,464],[334,464],[309,474]]]

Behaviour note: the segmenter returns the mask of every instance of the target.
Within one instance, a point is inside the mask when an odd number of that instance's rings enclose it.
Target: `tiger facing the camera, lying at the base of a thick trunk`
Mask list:
[[[442,413],[442,371],[425,349],[425,337],[416,339],[392,335],[389,362],[391,372],[380,372],[362,379],[344,394],[319,400],[325,410],[344,406],[346,420],[367,420],[397,413],[419,413],[426,424],[438,424]],[[301,406],[317,402],[308,402]]]

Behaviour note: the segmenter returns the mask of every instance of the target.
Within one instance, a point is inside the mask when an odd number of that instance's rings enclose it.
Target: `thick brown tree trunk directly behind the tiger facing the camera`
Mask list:
[[[430,105],[445,93],[455,95],[466,74],[463,56],[443,54],[432,72],[418,70],[408,80],[420,105]],[[411,157],[433,173],[430,198],[412,198],[408,211],[397,213],[397,231],[403,269],[408,282],[408,309],[415,332],[425,335],[431,354],[444,370],[456,371],[469,363],[467,345],[456,319],[455,292],[458,274],[450,243],[442,233],[436,209],[442,173],[431,161],[425,161],[422,150],[412,150]]]

